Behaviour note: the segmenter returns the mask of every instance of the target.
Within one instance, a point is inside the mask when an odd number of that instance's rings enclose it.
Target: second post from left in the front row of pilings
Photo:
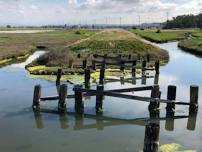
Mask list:
[[[67,98],[67,85],[60,86],[58,110],[64,112],[66,110],[66,98]]]

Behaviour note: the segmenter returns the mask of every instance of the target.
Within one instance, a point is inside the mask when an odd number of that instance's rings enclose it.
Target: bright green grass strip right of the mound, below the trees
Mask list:
[[[156,29],[136,29],[131,31],[149,41],[163,43],[174,40],[183,40],[194,30],[160,30],[160,32],[157,32],[158,30]]]

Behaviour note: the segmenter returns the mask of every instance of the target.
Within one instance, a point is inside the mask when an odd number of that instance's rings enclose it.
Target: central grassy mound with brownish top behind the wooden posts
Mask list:
[[[88,64],[90,64],[93,54],[108,54],[109,56],[132,54],[133,57],[136,57],[137,54],[146,56],[148,53],[151,55],[151,59],[168,60],[166,51],[145,43],[131,32],[125,30],[103,30],[63,49],[50,51],[30,66],[45,65],[46,67],[60,66],[71,68],[70,62],[77,66],[82,64],[83,59],[87,59]],[[80,58],[77,57],[78,54],[81,54]]]

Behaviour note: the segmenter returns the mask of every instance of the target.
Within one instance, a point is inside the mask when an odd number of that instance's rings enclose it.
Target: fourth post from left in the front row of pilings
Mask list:
[[[104,86],[98,85],[97,86],[97,95],[96,95],[96,112],[102,112],[103,110],[103,91]]]

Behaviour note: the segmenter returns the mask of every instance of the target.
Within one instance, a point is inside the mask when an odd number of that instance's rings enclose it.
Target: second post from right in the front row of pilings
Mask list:
[[[167,112],[174,112],[175,111],[175,99],[176,99],[176,86],[168,86],[168,94],[167,94],[167,99],[171,100],[173,102],[168,102],[167,103]]]

